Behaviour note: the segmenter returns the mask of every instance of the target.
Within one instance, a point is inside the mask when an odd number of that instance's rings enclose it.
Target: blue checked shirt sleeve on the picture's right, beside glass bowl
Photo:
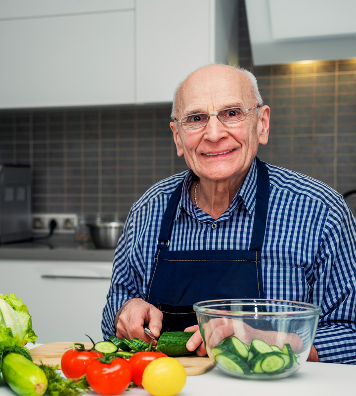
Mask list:
[[[331,208],[314,269],[321,362],[356,364],[356,221],[344,198]]]

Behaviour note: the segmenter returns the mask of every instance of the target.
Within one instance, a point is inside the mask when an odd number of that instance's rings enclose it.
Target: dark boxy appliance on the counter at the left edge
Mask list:
[[[0,164],[0,244],[31,237],[30,165]]]

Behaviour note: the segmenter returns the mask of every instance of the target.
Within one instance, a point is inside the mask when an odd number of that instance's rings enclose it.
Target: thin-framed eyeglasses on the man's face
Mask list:
[[[219,121],[223,124],[231,124],[233,122],[243,121],[247,117],[247,113],[254,108],[261,107],[259,104],[255,107],[244,108],[244,107],[230,107],[224,108],[217,113],[207,114],[207,113],[197,113],[186,115],[182,117],[177,122],[180,122],[183,129],[198,129],[203,128],[208,125],[209,118],[212,115],[216,115]]]

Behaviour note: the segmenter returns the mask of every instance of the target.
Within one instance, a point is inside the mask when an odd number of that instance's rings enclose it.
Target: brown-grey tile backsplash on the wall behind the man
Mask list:
[[[271,107],[259,157],[356,189],[356,59],[254,67],[244,3],[239,63]],[[114,212],[126,218],[152,184],[186,169],[170,105],[0,111],[0,162],[29,163],[33,212]]]

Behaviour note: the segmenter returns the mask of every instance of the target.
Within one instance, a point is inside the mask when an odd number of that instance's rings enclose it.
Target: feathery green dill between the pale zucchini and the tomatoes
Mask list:
[[[84,375],[79,380],[64,378],[55,367],[39,364],[39,367],[45,372],[48,379],[48,387],[45,395],[49,396],[82,396],[83,391],[89,391],[90,387]]]

